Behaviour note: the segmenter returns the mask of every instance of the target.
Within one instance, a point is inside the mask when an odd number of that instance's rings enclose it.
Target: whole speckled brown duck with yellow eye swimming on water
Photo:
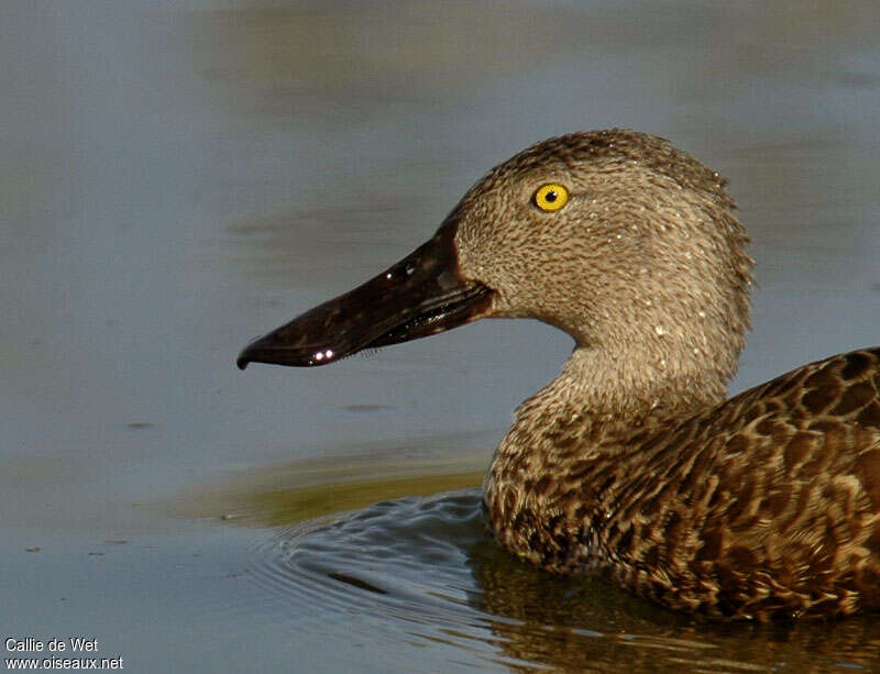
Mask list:
[[[727,398],[754,261],[726,185],[654,135],[546,140],[410,255],[238,365],[327,365],[482,318],[538,319],[574,347],[492,458],[483,510],[503,548],[695,616],[878,610],[880,347]]]

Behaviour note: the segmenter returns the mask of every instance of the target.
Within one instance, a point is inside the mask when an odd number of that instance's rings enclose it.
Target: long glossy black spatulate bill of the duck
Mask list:
[[[454,222],[362,286],[251,342],[238,365],[326,365],[364,349],[437,334],[486,316],[492,292],[459,273]]]

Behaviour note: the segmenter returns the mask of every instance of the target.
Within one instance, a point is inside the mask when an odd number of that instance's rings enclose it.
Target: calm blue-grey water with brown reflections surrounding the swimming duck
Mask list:
[[[546,325],[234,356],[495,163],[608,126],[730,179],[758,263],[732,391],[880,343],[880,5],[9,1],[0,30],[3,638],[135,672],[878,662],[877,618],[721,628],[524,568],[473,489],[301,522],[477,484],[571,349]]]

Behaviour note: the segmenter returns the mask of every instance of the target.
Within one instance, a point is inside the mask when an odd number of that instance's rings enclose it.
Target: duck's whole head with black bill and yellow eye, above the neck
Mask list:
[[[751,261],[724,181],[631,131],[538,143],[476,183],[433,237],[248,345],[238,364],[323,365],[486,317],[536,318],[575,351],[701,361],[726,382]]]

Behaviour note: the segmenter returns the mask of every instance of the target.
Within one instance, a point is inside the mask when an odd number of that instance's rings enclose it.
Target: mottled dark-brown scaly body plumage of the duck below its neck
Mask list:
[[[506,548],[724,617],[880,608],[880,349],[805,365],[693,417],[540,430],[486,480]],[[536,451],[510,448],[528,443]]]

